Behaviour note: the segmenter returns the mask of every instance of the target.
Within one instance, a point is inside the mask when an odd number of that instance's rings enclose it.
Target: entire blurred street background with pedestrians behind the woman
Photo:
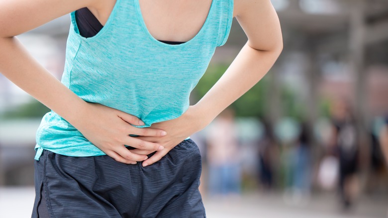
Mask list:
[[[207,217],[387,217],[388,0],[272,3],[283,53],[256,86],[192,136],[202,153]],[[17,36],[59,80],[69,26],[66,15]],[[246,40],[234,18],[192,105]],[[31,214],[35,133],[49,110],[0,74],[5,217]]]

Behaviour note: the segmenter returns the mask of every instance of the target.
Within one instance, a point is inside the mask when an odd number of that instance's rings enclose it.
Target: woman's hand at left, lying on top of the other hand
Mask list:
[[[134,115],[98,103],[87,103],[85,110],[79,114],[80,117],[74,126],[90,142],[118,162],[136,164],[136,161],[147,159],[147,155],[132,153],[124,145],[144,150],[160,151],[164,149],[160,144],[129,136],[129,134],[139,136],[163,136],[167,134],[161,129],[132,126],[131,124],[144,125]]]

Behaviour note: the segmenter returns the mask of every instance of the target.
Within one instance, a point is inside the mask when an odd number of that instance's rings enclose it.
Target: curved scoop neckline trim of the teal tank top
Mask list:
[[[116,0],[116,3],[118,1],[120,1],[120,0]],[[140,2],[139,2],[139,0],[133,0],[133,1],[135,3],[135,7],[136,7],[135,10],[136,10],[138,21],[139,21],[140,26],[142,27],[143,32],[145,33],[145,35],[152,42],[154,42],[154,44],[156,44],[156,45],[165,46],[167,48],[179,48],[179,47],[183,47],[183,46],[191,44],[193,41],[195,41],[196,38],[198,38],[202,34],[202,32],[204,31],[204,29],[207,26],[207,23],[209,23],[210,15],[211,15],[211,13],[213,11],[214,4],[215,4],[216,0],[211,0],[210,8],[209,8],[209,11],[207,12],[207,16],[206,16],[205,22],[202,24],[202,26],[199,29],[199,31],[194,35],[193,38],[191,38],[190,40],[188,40],[188,41],[186,41],[184,43],[180,43],[180,44],[167,44],[167,43],[163,43],[160,40],[156,39],[154,36],[152,36],[150,31],[148,30],[146,24],[145,24],[145,21],[144,21],[144,18],[143,18],[143,14],[142,14],[141,9],[140,9]]]

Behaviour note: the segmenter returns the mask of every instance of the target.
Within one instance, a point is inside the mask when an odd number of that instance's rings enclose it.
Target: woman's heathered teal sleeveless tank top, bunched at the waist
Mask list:
[[[116,0],[103,28],[89,38],[80,35],[75,11],[70,17],[61,82],[84,101],[133,114],[145,123],[137,127],[149,127],[189,108],[190,93],[215,48],[229,36],[233,0],[212,0],[199,32],[176,45],[149,33],[139,0]],[[67,156],[105,155],[52,110],[37,129],[35,149],[36,160],[44,149]]]

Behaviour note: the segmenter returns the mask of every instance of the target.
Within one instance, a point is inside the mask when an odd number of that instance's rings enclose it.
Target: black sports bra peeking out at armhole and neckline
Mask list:
[[[88,38],[95,36],[101,29],[102,24],[98,21],[96,16],[89,10],[88,7],[83,7],[75,12],[76,15],[76,22],[78,26],[78,30],[80,31],[80,35]],[[167,44],[182,44],[184,42],[177,42],[177,41],[165,41],[165,40],[159,40],[161,42],[167,43]]]

